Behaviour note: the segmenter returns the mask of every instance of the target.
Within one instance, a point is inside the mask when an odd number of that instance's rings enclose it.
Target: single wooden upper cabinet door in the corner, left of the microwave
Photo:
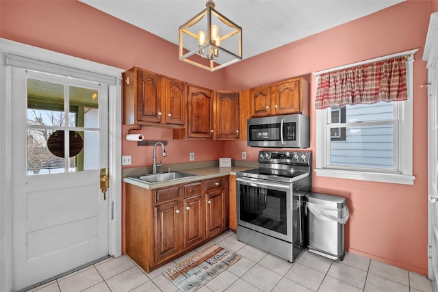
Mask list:
[[[239,122],[239,93],[218,92],[216,96],[216,139],[239,139]]]

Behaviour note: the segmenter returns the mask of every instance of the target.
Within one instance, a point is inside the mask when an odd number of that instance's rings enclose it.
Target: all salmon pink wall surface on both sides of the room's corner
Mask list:
[[[357,21],[209,73],[180,62],[177,46],[138,27],[108,16],[76,0],[0,1],[0,37],[94,62],[148,70],[214,90],[244,90],[257,85],[305,76],[315,95],[312,72],[419,48],[414,64],[415,184],[395,185],[313,174],[313,190],[347,198],[350,220],[346,248],[350,252],[427,274],[427,81],[422,59],[430,12],[437,1],[406,1]],[[296,29],[299,29],[297,27]],[[213,77],[213,78],[212,78]],[[311,98],[311,108],[313,108]],[[311,111],[311,147],[315,155],[315,110]],[[123,136],[131,127],[123,127]],[[258,149],[246,142],[171,140],[171,131],[143,128],[146,140],[167,140],[163,163],[188,162],[221,156],[256,161]],[[152,148],[123,139],[123,154],[133,167],[152,164]],[[167,160],[168,159],[168,160]],[[313,165],[314,166],[314,165]]]

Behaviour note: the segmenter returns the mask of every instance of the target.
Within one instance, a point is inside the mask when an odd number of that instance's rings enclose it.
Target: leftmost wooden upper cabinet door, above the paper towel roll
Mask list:
[[[160,122],[162,77],[152,72],[137,71],[137,120]]]

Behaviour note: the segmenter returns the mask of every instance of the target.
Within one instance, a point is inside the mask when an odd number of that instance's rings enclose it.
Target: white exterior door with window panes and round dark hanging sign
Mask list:
[[[12,69],[12,288],[107,256],[108,85]]]

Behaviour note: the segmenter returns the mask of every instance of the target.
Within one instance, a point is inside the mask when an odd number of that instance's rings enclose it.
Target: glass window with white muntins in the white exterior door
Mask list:
[[[98,170],[99,147],[98,90],[27,79],[28,175]]]

